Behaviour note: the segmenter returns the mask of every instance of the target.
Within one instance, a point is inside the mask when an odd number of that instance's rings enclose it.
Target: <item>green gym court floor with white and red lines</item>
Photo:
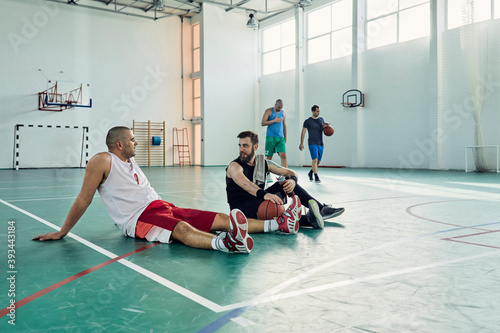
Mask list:
[[[228,213],[223,167],[143,170],[164,200]],[[32,241],[84,170],[0,170],[0,332],[500,332],[500,175],[295,170],[345,213],[250,255],[127,238],[97,194],[71,237]]]

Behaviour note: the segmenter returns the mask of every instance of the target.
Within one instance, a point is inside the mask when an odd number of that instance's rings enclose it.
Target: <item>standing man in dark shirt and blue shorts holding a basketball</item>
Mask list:
[[[309,171],[309,180],[313,180],[314,173],[314,182],[321,183],[321,180],[318,176],[318,165],[321,162],[321,158],[323,157],[323,128],[329,125],[325,123],[325,120],[319,116],[319,106],[313,105],[311,108],[312,116],[307,118],[304,121],[304,125],[302,126],[302,134],[300,135],[300,145],[299,150],[304,150],[304,137],[306,134],[306,130],[308,131],[308,139],[307,143],[309,145],[309,152],[311,154],[311,171]]]

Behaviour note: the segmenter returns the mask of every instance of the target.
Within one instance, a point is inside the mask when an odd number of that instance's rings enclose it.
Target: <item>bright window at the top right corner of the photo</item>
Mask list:
[[[500,17],[500,0],[448,0],[448,29]]]

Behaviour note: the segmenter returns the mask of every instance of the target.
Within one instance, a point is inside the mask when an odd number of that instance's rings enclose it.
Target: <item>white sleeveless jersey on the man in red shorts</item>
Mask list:
[[[111,155],[111,169],[97,190],[116,225],[125,235],[134,237],[139,216],[151,202],[161,200],[161,197],[133,158],[124,162],[108,153]]]

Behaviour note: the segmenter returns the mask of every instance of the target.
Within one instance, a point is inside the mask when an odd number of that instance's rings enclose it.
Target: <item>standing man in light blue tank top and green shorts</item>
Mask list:
[[[273,108],[264,112],[262,126],[267,126],[266,151],[268,160],[273,159],[274,153],[281,158],[281,166],[288,168],[286,160],[286,113],[283,110],[283,101],[278,99]]]

